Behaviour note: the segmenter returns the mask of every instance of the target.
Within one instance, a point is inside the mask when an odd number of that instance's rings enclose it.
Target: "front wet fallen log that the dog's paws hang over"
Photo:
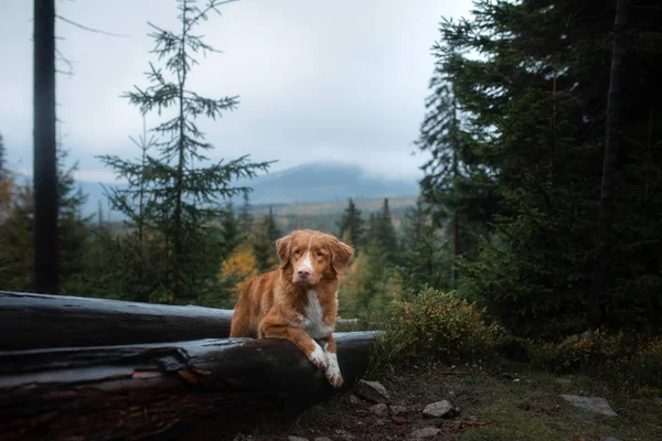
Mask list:
[[[375,333],[335,338],[341,389],[284,340],[0,352],[0,433],[2,440],[139,439],[205,416],[246,417],[264,404],[300,411],[350,390],[365,373]]]

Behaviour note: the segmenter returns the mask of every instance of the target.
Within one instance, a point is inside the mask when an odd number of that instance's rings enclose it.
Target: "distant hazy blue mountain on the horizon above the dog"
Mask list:
[[[107,212],[107,201],[99,183],[79,182],[88,195],[86,213],[96,213],[99,201]],[[407,197],[418,194],[415,180],[402,180],[367,174],[357,165],[312,162],[279,172],[260,175],[250,181],[237,182],[250,186],[250,204],[296,204],[339,202],[348,197],[363,200]],[[107,186],[109,184],[106,184]],[[239,203],[239,201],[236,201]],[[119,214],[111,213],[111,218]]]

